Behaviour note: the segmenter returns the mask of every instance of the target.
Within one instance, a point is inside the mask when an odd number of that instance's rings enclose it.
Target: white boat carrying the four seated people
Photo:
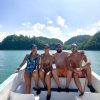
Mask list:
[[[22,67],[19,73],[12,74],[8,79],[6,79],[0,85],[0,100],[46,100],[47,91],[41,91],[40,95],[36,95],[34,87],[34,82],[31,83],[31,94],[25,94],[25,81],[24,81],[24,68]],[[84,88],[85,94],[79,97],[78,92],[51,92],[51,100],[100,100],[100,76],[92,72],[92,84],[96,90],[96,93],[91,93],[87,88],[87,80],[85,78],[80,78],[82,87]],[[66,79],[60,78],[61,86],[64,88]],[[43,87],[42,82],[39,82],[40,87]],[[57,85],[52,79],[52,88],[57,88]],[[74,80],[72,78],[71,89],[77,89]]]

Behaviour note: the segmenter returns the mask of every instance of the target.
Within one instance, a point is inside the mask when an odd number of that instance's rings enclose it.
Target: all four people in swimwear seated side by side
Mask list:
[[[65,77],[66,92],[69,92],[69,85],[72,77],[75,80],[75,84],[80,91],[79,96],[84,95],[84,89],[82,88],[79,77],[86,77],[88,80],[87,87],[91,92],[95,92],[92,86],[92,75],[91,75],[91,63],[87,59],[84,51],[79,51],[76,44],[71,45],[72,52],[62,51],[62,45],[57,43],[56,53],[50,54],[49,45],[44,45],[44,53],[39,55],[37,53],[37,46],[32,45],[30,54],[27,54],[16,69],[16,72],[27,62],[27,66],[24,72],[26,94],[30,93],[31,90],[31,79],[34,79],[37,94],[40,94],[39,79],[42,80],[44,88],[47,89],[47,100],[51,98],[51,77],[54,78],[58,88],[57,91],[61,91],[61,83],[59,77]],[[85,62],[83,64],[83,62]]]

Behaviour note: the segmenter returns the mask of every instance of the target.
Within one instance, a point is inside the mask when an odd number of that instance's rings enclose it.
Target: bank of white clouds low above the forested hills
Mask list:
[[[48,24],[47,24],[48,23]],[[58,26],[58,25],[59,26]],[[65,19],[61,16],[57,17],[57,23],[51,19],[47,19],[46,24],[44,23],[35,23],[23,22],[22,28],[15,31],[16,35],[24,36],[44,36],[48,38],[58,38],[63,42],[67,41],[73,36],[77,35],[94,35],[97,31],[100,30],[100,20],[91,24],[90,26],[81,27],[73,29],[65,23]],[[0,41],[2,41],[6,36],[11,35],[9,32],[0,32]]]

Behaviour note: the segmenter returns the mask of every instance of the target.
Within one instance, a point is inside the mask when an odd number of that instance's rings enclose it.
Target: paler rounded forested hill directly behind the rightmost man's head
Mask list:
[[[72,37],[68,41],[64,43],[64,46],[69,49],[71,44],[76,43],[79,46],[79,49],[84,48],[84,44],[87,43],[87,41],[91,38],[89,35],[78,35],[75,37]]]

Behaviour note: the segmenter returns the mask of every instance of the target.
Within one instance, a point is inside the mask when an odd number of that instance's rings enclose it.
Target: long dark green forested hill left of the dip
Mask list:
[[[49,44],[51,49],[55,49],[56,43],[63,42],[59,39],[49,39],[46,37],[27,37],[27,36],[17,36],[17,35],[10,35],[7,36],[1,43],[0,49],[1,50],[29,50],[31,49],[32,44],[36,44],[38,49],[43,49],[45,44]]]

